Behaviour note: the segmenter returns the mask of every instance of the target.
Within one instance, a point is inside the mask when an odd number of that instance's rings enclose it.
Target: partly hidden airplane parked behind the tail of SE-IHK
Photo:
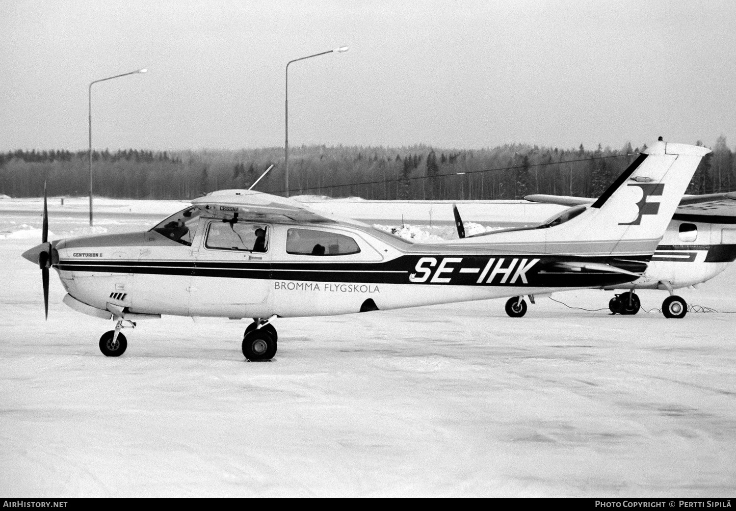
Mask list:
[[[531,202],[578,208],[595,199],[556,195],[528,195]],[[636,289],[662,289],[669,296],[662,302],[662,314],[684,317],[687,303],[674,289],[709,281],[736,260],[736,192],[686,195],[672,217],[665,236],[646,271],[635,281],[602,289],[629,289],[609,301],[612,314],[637,314],[641,303]]]

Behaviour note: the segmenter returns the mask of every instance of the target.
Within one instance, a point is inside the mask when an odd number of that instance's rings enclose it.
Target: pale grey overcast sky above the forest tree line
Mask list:
[[[0,150],[736,142],[733,1],[0,0]]]

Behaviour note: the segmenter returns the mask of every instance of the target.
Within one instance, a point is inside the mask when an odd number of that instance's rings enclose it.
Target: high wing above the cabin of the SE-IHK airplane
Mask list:
[[[273,223],[336,223],[336,217],[318,213],[286,197],[254,190],[219,190],[191,201],[205,216]],[[340,219],[342,220],[342,219]]]

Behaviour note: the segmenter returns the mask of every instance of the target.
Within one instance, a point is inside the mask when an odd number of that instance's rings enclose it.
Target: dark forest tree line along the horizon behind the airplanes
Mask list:
[[[698,145],[703,145],[698,141]],[[642,148],[559,149],[505,144],[487,149],[302,146],[289,149],[290,195],[369,200],[498,200],[527,194],[598,197]],[[94,194],[135,199],[193,199],[224,188],[255,187],[283,195],[283,148],[154,152],[93,151]],[[84,196],[87,151],[0,153],[0,194]],[[690,194],[736,189],[736,161],[721,135],[698,166]]]

